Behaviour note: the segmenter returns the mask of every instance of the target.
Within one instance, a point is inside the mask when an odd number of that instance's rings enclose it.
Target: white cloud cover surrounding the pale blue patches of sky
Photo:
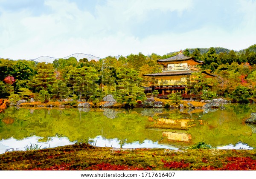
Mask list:
[[[250,0],[239,3],[237,13],[241,13],[243,21],[231,32],[225,26],[201,22],[197,29],[177,33],[166,29],[164,33],[151,33],[146,37],[139,37],[133,31],[143,31],[141,23],[152,13],[163,11],[181,15],[191,9],[196,13],[194,1],[108,0],[105,5],[96,5],[95,14],[67,0],[45,0],[50,11],[37,16],[24,9],[1,9],[0,39],[4,43],[0,43],[0,57],[66,57],[78,52],[97,57],[138,52],[163,55],[185,48],[211,46],[239,50],[256,43],[256,3]]]

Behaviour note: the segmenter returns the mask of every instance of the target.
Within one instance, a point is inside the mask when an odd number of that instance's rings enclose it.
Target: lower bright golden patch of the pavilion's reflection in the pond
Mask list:
[[[177,141],[177,142],[190,142],[191,135],[187,133],[177,133],[165,131],[162,133],[163,137],[167,137],[168,140]]]

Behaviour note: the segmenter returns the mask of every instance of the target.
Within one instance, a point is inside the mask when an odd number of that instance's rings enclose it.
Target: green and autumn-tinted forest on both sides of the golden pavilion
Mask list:
[[[252,48],[253,47],[253,48]],[[183,54],[204,61],[201,71],[217,75],[204,78],[204,74],[192,74],[202,99],[230,98],[233,102],[248,103],[256,98],[256,45],[243,51],[216,52],[215,48],[202,54],[199,48]],[[252,50],[253,49],[253,50]],[[67,97],[98,103],[108,94],[120,103],[134,105],[144,101],[145,86],[154,80],[143,74],[158,73],[162,66],[158,59],[172,57],[177,53],[127,57],[105,57],[99,61],[84,59],[54,60],[53,63],[38,63],[29,60],[0,59],[0,98],[17,102],[20,99],[36,101],[62,101]]]

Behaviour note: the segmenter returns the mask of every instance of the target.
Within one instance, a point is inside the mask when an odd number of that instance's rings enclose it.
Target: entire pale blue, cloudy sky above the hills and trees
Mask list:
[[[256,43],[256,0],[0,0],[0,57],[104,58]]]

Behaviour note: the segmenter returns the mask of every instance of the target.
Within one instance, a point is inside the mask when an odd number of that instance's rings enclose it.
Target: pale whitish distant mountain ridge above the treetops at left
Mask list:
[[[95,57],[95,56],[93,56],[93,55],[82,54],[82,53],[72,54],[72,55],[70,55],[70,56],[63,57],[63,59],[68,59],[68,58],[70,58],[70,57],[75,57],[76,60],[83,59],[83,58],[87,58],[88,61],[90,61],[90,60],[96,60],[96,61],[98,61],[98,60],[100,59],[99,57]],[[60,58],[42,56],[42,57],[38,57],[38,58],[36,58],[36,59],[31,59],[31,60],[32,60],[32,61],[36,61],[36,62],[52,63],[55,59],[60,59]]]

